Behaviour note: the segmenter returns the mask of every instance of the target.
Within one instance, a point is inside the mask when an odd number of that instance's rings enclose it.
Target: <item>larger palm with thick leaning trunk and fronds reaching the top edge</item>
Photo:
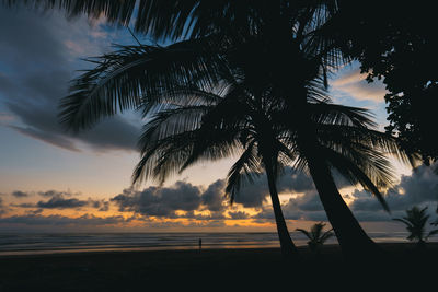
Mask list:
[[[129,23],[136,2],[27,1],[58,5],[71,15],[103,13],[110,21],[122,24]],[[231,51],[234,59],[227,52],[228,61],[246,67],[247,81],[256,84],[266,80],[276,89],[276,96],[285,100],[288,115],[283,117],[288,118],[284,118],[283,124],[295,132],[292,149],[300,153],[297,165],[312,175],[344,253],[373,250],[373,242],[342,199],[332,170],[341,170],[351,183],[360,183],[388,209],[378,187],[388,185],[391,175],[379,151],[400,154],[396,143],[391,137],[370,133],[365,127],[350,124],[344,125],[347,128],[343,132],[332,132],[339,139],[337,143],[324,144],[320,132],[330,127],[314,122],[314,105],[308,103],[309,95],[314,93],[312,81],[322,77],[326,85],[328,69],[348,61],[335,50],[331,36],[324,35],[326,20],[336,12],[336,1],[284,0],[273,4],[266,1],[142,0],[137,11],[137,32],[178,43],[166,48],[123,47],[97,60],[96,69],[78,79],[72,87],[76,97],[64,102],[64,116],[76,110],[76,115],[68,118],[73,121],[71,125],[87,127],[117,109],[139,106],[145,100],[188,81],[196,80],[198,85],[216,84],[220,79],[217,73],[223,72],[223,51]],[[217,54],[218,48],[222,55]],[[351,125],[354,129],[348,128]],[[347,130],[354,130],[354,135],[348,136]],[[362,141],[358,141],[359,138]],[[355,144],[348,144],[346,141],[351,141],[348,139],[355,139]]]

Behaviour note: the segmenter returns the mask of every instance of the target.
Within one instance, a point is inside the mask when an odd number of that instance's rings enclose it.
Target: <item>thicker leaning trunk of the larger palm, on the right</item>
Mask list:
[[[381,256],[380,248],[367,235],[342,198],[325,162],[309,159],[308,165],[344,256],[347,259]]]

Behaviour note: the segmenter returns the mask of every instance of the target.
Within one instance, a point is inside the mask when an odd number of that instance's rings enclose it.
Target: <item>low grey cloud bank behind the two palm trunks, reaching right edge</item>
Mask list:
[[[404,211],[417,206],[430,206],[429,213],[435,212],[438,202],[438,176],[434,167],[419,166],[411,175],[403,175],[401,182],[387,191],[385,200],[391,213],[383,210],[380,202],[368,191],[356,189],[350,194],[349,208],[361,222],[388,222],[404,215]],[[315,190],[290,198],[281,206],[287,220],[326,221],[326,214]],[[434,214],[435,215],[435,214]],[[253,217],[256,220],[274,220],[272,207],[264,207]]]

